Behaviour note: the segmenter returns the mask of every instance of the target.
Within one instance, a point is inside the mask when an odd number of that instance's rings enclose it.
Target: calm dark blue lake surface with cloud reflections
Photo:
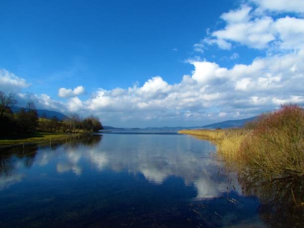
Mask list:
[[[0,227],[274,227],[215,150],[153,131],[1,150]]]

